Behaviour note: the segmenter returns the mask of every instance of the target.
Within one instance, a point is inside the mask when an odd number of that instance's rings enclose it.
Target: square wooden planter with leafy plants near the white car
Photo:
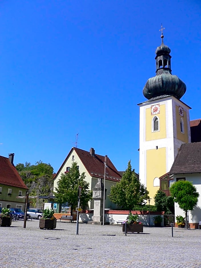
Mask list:
[[[56,218],[53,216],[54,210],[46,208],[43,210],[42,218],[39,220],[40,229],[51,229],[56,228]]]

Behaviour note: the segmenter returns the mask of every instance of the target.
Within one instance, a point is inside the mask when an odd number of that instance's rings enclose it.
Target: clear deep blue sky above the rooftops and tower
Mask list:
[[[201,118],[200,1],[1,1],[0,155],[57,172],[74,146],[139,171],[139,107],[155,50],[171,49],[182,101]]]

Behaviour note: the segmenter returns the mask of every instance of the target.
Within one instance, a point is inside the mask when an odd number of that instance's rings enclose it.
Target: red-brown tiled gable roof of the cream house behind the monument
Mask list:
[[[105,179],[106,180],[113,180],[113,181],[120,181],[121,176],[109,157],[107,157],[107,167],[105,169],[105,156],[103,155],[97,155],[95,154],[94,156],[91,155],[90,152],[84,151],[79,148],[72,147],[70,152],[68,153],[66,159],[62,163],[61,167],[59,168],[58,172],[56,175],[60,172],[61,168],[65,164],[66,160],[68,159],[68,156],[72,152],[72,150],[75,150],[77,153],[78,157],[82,161],[82,164],[88,171],[88,173],[95,178],[104,178],[104,172],[105,172]]]

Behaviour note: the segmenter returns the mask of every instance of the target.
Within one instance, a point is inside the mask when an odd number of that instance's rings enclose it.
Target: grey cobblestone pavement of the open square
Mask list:
[[[57,222],[40,230],[39,221],[0,227],[0,267],[201,267],[201,230],[144,227],[125,234],[121,226]],[[52,239],[48,239],[52,238]]]

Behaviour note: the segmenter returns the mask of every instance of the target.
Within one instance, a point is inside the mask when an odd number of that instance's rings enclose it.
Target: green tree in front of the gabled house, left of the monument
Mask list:
[[[70,215],[73,215],[73,209],[78,204],[78,186],[82,186],[80,196],[80,205],[85,206],[92,199],[92,191],[89,190],[89,183],[85,180],[85,172],[80,175],[77,163],[73,162],[67,173],[62,173],[57,182],[55,201],[62,204],[68,202],[71,207]]]

